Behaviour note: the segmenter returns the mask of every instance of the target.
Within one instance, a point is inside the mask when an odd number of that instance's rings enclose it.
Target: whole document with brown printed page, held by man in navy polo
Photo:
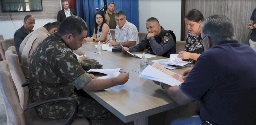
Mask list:
[[[139,75],[139,77],[165,83],[170,86],[179,86],[184,82],[181,75],[163,68],[158,63],[155,63],[152,66],[147,66]]]

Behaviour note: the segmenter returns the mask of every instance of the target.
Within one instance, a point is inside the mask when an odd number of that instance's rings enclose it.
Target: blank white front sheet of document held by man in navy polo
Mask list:
[[[173,77],[157,70],[152,66],[147,66],[139,75],[139,77],[162,82],[170,86],[175,86],[175,85],[179,86],[181,84],[181,82],[178,81],[177,79],[174,79]]]

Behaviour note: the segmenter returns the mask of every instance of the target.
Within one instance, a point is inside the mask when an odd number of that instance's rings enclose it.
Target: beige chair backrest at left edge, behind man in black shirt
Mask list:
[[[3,60],[6,60],[4,54],[5,51],[11,46],[14,46],[13,38],[0,40],[0,54]]]

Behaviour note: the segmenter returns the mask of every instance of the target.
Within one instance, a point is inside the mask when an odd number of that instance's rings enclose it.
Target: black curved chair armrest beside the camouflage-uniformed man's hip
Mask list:
[[[42,101],[38,101],[38,102],[34,102],[28,105],[28,109],[34,108],[35,106],[39,106],[39,105],[43,105],[46,103],[51,103],[51,102],[63,102],[63,101],[67,101],[67,102],[71,102],[72,105],[74,106],[74,109],[71,111],[70,116],[68,117],[68,119],[62,124],[62,125],[70,125],[72,123],[73,117],[75,115],[75,113],[77,113],[77,109],[78,109],[78,104],[76,102],[76,100],[74,100],[72,97],[56,97],[56,98],[52,98],[52,99],[47,99],[47,100],[42,100]]]

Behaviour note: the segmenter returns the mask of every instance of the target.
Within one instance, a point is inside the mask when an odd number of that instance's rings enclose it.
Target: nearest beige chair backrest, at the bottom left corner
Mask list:
[[[10,86],[11,84],[12,77],[8,72],[8,62],[6,60],[0,61],[0,90],[4,99],[7,124],[25,125],[24,113],[15,94],[15,86]]]

